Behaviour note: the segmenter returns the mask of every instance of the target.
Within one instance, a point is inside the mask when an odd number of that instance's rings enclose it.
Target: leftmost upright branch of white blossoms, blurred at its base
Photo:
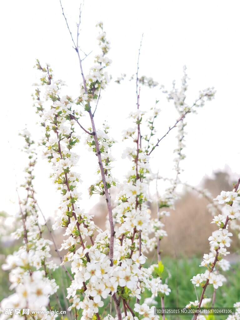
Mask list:
[[[51,259],[50,245],[52,242],[42,237],[44,228],[38,221],[32,184],[33,169],[36,164],[34,141],[31,140],[30,133],[26,130],[22,136],[25,138],[24,149],[28,154],[29,164],[25,169],[26,181],[21,187],[25,188],[27,196],[23,200],[19,199],[20,211],[16,215],[16,219],[21,220],[22,223],[21,227],[14,232],[14,236],[17,239],[23,238],[23,245],[18,251],[8,255],[6,263],[2,266],[4,270],[11,270],[9,275],[10,289],[14,290],[14,293],[1,302],[1,309],[29,308],[32,313],[34,310],[46,310],[50,307],[49,296],[57,291],[58,286],[55,280],[48,275],[51,275],[51,270],[55,270],[57,266],[52,260],[49,260]],[[19,316],[21,314],[14,314],[12,317],[19,319]],[[44,315],[35,316],[44,319]],[[1,319],[8,317],[8,315],[1,315]]]

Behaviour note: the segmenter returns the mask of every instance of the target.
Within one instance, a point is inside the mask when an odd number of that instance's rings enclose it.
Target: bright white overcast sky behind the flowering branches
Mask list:
[[[68,22],[76,32],[79,1],[62,0]],[[186,137],[187,158],[182,163],[183,181],[196,185],[205,174],[223,168],[225,164],[239,172],[239,2],[238,1],[96,1],[85,0],[82,14],[81,48],[97,50],[95,28],[99,20],[111,41],[108,57],[113,60],[109,73],[114,78],[136,72],[141,34],[144,33],[139,75],[151,76],[166,89],[172,80],[180,85],[182,67],[187,65],[190,80],[187,102],[191,105],[198,91],[208,86],[217,90],[216,98],[208,102],[198,115],[188,116]],[[14,213],[16,185],[23,181],[26,157],[20,152],[23,138],[18,132],[25,128],[34,139],[40,139],[37,117],[32,108],[32,83],[36,82],[35,59],[51,64],[56,78],[66,81],[69,95],[77,96],[81,81],[78,61],[61,14],[58,0],[5,1],[1,6],[1,205],[0,210]],[[96,52],[96,51],[95,51]],[[87,73],[93,54],[84,60]],[[160,100],[159,137],[172,125],[177,114],[159,89],[141,88],[140,109],[148,110]],[[121,142],[122,130],[133,126],[126,120],[136,103],[135,84],[125,80],[122,85],[111,83],[103,94],[95,116],[100,128],[106,118],[112,126],[111,135]],[[88,115],[87,115],[88,116]],[[83,124],[89,125],[88,117]],[[79,131],[82,134],[81,131]],[[153,171],[165,176],[172,173],[172,150],[177,132],[171,133],[155,150]],[[84,139],[83,139],[84,140]],[[113,156],[121,155],[119,144]],[[115,163],[114,175],[123,181],[128,160]],[[98,197],[89,199],[87,188],[95,181],[97,161],[93,154],[81,151],[79,172],[86,180],[81,191],[83,207],[89,210]],[[46,215],[58,207],[59,196],[48,179],[49,165],[39,156],[35,186],[40,205]],[[15,203],[14,203],[15,202]]]

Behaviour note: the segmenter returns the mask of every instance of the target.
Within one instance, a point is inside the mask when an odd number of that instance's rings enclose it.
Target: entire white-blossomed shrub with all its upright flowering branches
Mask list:
[[[65,12],[61,5],[63,16],[67,22]],[[97,110],[101,92],[104,91],[110,81],[106,68],[111,64],[107,57],[110,42],[107,40],[103,23],[99,22],[99,48],[95,55],[93,66],[88,74],[84,74],[82,63],[88,56],[81,58],[79,49],[79,26],[81,23],[81,9],[77,24],[76,41],[71,40],[79,59],[82,83],[76,99],[62,94],[64,82],[56,80],[49,64],[42,65],[36,62],[36,69],[40,73],[40,81],[35,84],[33,95],[34,107],[40,117],[43,128],[43,137],[40,145],[43,148],[44,157],[51,166],[51,179],[61,195],[59,214],[53,224],[53,229],[64,228],[66,237],[63,239],[59,251],[67,253],[61,265],[67,262],[71,264],[71,284],[67,288],[67,299],[70,302],[69,312],[75,318],[81,320],[91,319],[129,319],[129,320],[157,320],[154,315],[154,307],[142,303],[141,297],[145,290],[151,292],[152,299],[157,295],[161,297],[164,307],[164,296],[169,295],[171,288],[167,282],[163,283],[162,274],[164,266],[161,261],[160,240],[167,236],[164,231],[162,217],[169,215],[166,208],[173,205],[175,188],[181,183],[180,161],[185,158],[182,153],[185,137],[186,116],[203,107],[206,101],[214,98],[214,88],[207,88],[199,92],[198,98],[189,106],[185,102],[187,79],[186,68],[182,78],[181,88],[178,90],[173,83],[173,89],[168,93],[168,101],[172,100],[178,112],[178,119],[169,127],[167,132],[158,139],[155,122],[160,115],[160,108],[156,105],[149,111],[140,108],[140,85],[152,88],[158,85],[152,78],[138,76],[139,56],[136,73],[137,107],[132,109],[129,118],[132,127],[123,131],[123,143],[125,140],[131,143],[126,147],[123,158],[127,158],[129,171],[124,176],[121,191],[116,195],[115,205],[110,199],[110,189],[118,185],[118,181],[112,176],[112,163],[115,161],[111,154],[111,147],[116,141],[110,136],[110,126],[104,123],[100,129],[96,129],[94,115]],[[140,45],[141,47],[141,45]],[[139,49],[140,55],[140,49]],[[126,75],[122,75],[116,82],[120,82]],[[88,115],[91,121],[90,128],[84,128],[82,117]],[[143,126],[142,124],[147,124]],[[164,195],[157,195],[157,217],[153,218],[148,203],[151,201],[148,187],[152,177],[156,180],[158,174],[150,169],[152,153],[168,133],[177,127],[178,146],[174,150],[177,154],[174,169],[176,178],[171,180],[171,187]],[[11,289],[15,293],[4,299],[1,308],[14,306],[18,308],[42,308],[51,309],[49,296],[56,293],[58,286],[54,279],[48,277],[50,270],[54,270],[49,251],[52,242],[42,237],[42,226],[37,220],[37,207],[32,186],[32,169],[35,164],[35,151],[31,149],[33,144],[28,132],[24,133],[29,154],[30,164],[26,170],[27,180],[24,188],[27,190],[25,200],[20,200],[19,217],[22,219],[22,227],[17,230],[15,236],[23,237],[24,244],[18,252],[7,257],[4,269],[11,269]],[[108,209],[109,230],[101,230],[95,225],[92,216],[84,211],[81,203],[81,176],[77,172],[77,164],[81,157],[77,148],[81,139],[89,151],[96,158],[96,181],[89,184],[89,195],[95,194],[106,199]],[[196,287],[202,286],[203,291],[199,301],[195,305],[201,306],[205,298],[207,285],[218,288],[225,278],[215,271],[215,265],[227,270],[228,263],[222,257],[228,254],[232,234],[228,232],[228,221],[235,220],[239,213],[239,181],[233,192],[222,192],[216,198],[224,208],[221,214],[215,216],[218,230],[209,237],[211,252],[204,254],[201,266],[206,267],[205,273],[194,276],[191,281]],[[157,188],[156,188],[157,190]],[[145,267],[146,256],[149,251],[157,252],[157,264]],[[66,269],[67,270],[67,269]],[[68,271],[67,271],[68,272]],[[100,314],[102,307],[107,308],[114,303],[115,310],[108,315]],[[188,305],[188,307],[191,305]],[[36,316],[37,317],[37,316]],[[196,316],[195,316],[196,317]],[[7,319],[8,316],[2,316]],[[25,318],[27,316],[25,315]],[[42,316],[43,318],[43,316]],[[164,318],[164,316],[163,316]],[[19,319],[19,317],[18,317]]]

